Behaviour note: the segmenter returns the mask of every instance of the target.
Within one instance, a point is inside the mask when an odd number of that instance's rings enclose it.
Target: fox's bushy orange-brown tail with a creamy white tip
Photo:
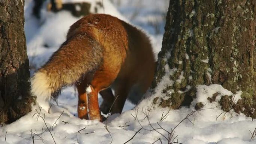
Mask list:
[[[103,59],[103,49],[89,34],[76,34],[66,40],[48,62],[31,78],[31,93],[40,107],[48,111],[49,100],[63,86],[79,82],[95,71]]]

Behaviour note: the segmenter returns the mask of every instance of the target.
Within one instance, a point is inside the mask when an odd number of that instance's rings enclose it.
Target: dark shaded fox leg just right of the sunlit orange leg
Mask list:
[[[103,102],[100,105],[100,111],[102,111],[102,113],[104,114],[107,114],[110,112],[111,105],[113,104],[115,99],[112,93],[112,89],[111,88],[104,89],[100,91],[100,95],[103,98]]]

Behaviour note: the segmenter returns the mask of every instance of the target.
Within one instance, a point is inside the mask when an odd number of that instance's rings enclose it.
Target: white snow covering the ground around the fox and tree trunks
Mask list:
[[[161,49],[169,0],[112,1],[114,4],[103,0],[104,9],[100,12],[117,16],[146,31],[157,54]],[[69,12],[55,14],[44,10],[38,21],[31,16],[32,4],[33,0],[25,1],[25,34],[31,74],[58,49],[65,40],[68,27],[79,19]],[[104,123],[77,118],[77,92],[68,87],[59,96],[58,106],[53,102],[50,114],[35,105],[26,116],[1,127],[0,144],[124,144],[133,136],[127,144],[168,144],[168,139],[182,144],[256,144],[255,121],[233,111],[224,113],[218,102],[207,101],[207,97],[216,92],[219,92],[216,99],[231,95],[220,85],[198,86],[197,98],[191,108],[169,110],[153,105],[152,99],[162,95],[165,85],[173,83],[168,80],[168,74],[173,70],[167,67],[166,71],[166,78],[159,83],[154,95],[135,108],[127,101],[121,115],[110,116]],[[238,92],[235,99],[240,95]],[[102,101],[100,96],[99,100]],[[197,102],[204,104],[203,110],[195,111],[193,107]],[[173,137],[169,138],[169,135]]]

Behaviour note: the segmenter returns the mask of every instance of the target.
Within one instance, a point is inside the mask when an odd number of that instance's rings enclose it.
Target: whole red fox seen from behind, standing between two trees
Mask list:
[[[114,100],[112,114],[122,112],[128,95],[138,102],[154,72],[155,59],[146,34],[116,17],[92,14],[71,25],[67,40],[31,78],[31,93],[48,110],[49,99],[56,98],[63,86],[74,84],[78,117],[101,121],[100,109],[108,113]],[[100,107],[99,92],[104,100]]]

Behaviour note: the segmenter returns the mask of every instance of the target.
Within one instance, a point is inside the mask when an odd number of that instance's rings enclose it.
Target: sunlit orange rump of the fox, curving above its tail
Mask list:
[[[122,21],[105,14],[88,15],[71,25],[67,39],[79,33],[86,33],[101,44],[104,53],[101,69],[115,77],[128,49],[128,35]]]

